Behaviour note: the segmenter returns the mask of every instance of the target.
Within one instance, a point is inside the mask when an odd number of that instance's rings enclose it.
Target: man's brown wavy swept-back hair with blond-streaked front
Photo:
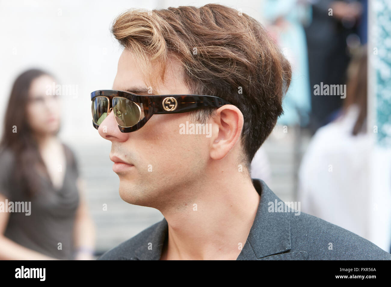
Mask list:
[[[218,96],[237,106],[244,116],[241,140],[249,166],[283,113],[291,81],[289,62],[258,21],[219,4],[129,9],[113,21],[111,32],[133,53],[149,86],[164,82],[174,57],[192,94]],[[191,113],[205,122],[214,111]]]

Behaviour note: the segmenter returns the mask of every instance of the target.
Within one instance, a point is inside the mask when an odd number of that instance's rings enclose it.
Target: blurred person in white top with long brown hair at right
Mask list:
[[[341,115],[317,130],[303,156],[298,200],[302,212],[379,244],[369,220],[373,212],[369,188],[372,147],[366,128],[366,46],[353,55],[347,78]]]

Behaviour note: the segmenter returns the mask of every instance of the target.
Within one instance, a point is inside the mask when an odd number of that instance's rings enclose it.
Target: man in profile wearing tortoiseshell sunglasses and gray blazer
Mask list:
[[[129,10],[112,32],[125,49],[114,90],[91,94],[94,127],[121,198],[164,219],[99,259],[391,258],[251,180],[291,75],[257,21],[208,4]]]

